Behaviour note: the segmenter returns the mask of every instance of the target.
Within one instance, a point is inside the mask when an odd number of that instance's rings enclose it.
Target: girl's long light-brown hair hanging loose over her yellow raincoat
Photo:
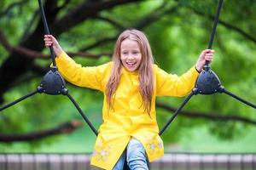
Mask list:
[[[113,95],[116,89],[118,88],[119,81],[120,81],[120,74],[121,74],[121,68],[122,68],[122,62],[120,59],[120,46],[125,39],[131,39],[133,41],[136,41],[142,53],[142,60],[138,68],[139,82],[140,82],[139,92],[143,99],[144,111],[147,111],[149,114],[151,110],[151,100],[153,95],[153,84],[154,84],[153,69],[152,69],[152,65],[154,64],[154,58],[151,52],[148,38],[145,36],[145,34],[142,31],[137,31],[134,29],[123,31],[119,35],[115,43],[113,56],[112,56],[113,69],[106,87],[108,108],[113,108],[113,100],[114,100]]]

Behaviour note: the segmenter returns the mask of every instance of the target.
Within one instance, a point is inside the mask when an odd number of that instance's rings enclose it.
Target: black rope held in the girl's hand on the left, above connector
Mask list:
[[[43,20],[43,24],[44,24],[44,33],[49,35],[49,26],[47,24],[47,20],[44,14],[44,7],[41,3],[41,0],[38,0],[38,4],[39,4],[39,8],[40,8],[40,13],[42,16],[42,20]],[[54,53],[54,49],[52,46],[49,47],[49,51],[50,51],[50,57],[52,59],[52,65],[55,67],[56,63],[55,63],[55,53]]]

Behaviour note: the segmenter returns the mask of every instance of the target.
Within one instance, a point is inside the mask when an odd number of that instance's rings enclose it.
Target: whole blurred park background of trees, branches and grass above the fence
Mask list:
[[[106,4],[115,5],[106,7]],[[49,54],[44,48],[37,1],[2,0],[0,3],[0,97],[5,105],[34,91],[49,71],[48,58],[34,58],[17,48]],[[207,48],[217,0],[122,0],[45,1],[50,31],[62,48],[82,65],[101,65],[111,58],[119,32],[125,28],[144,31],[155,62],[167,72],[181,75],[202,49]],[[104,6],[105,5],[105,6]],[[100,7],[100,8],[97,8]],[[81,8],[81,9],[80,9]],[[256,102],[256,2],[224,1],[213,47],[212,70],[230,92]],[[80,10],[80,15],[68,18]],[[66,20],[61,24],[61,20]],[[8,48],[3,40],[9,43]],[[86,54],[85,54],[86,53]],[[94,56],[94,57],[91,57]],[[96,127],[102,122],[102,94],[67,84],[69,93]],[[158,102],[177,108],[184,98],[161,97]],[[255,152],[256,111],[224,94],[193,97],[184,111],[201,116],[177,116],[163,135],[167,150],[195,152]],[[172,111],[157,108],[160,127]],[[215,116],[207,119],[204,115]],[[238,119],[234,117],[239,117]],[[233,117],[233,118],[232,118]],[[0,114],[0,134],[38,133],[79,120],[78,111],[63,96],[37,94]],[[0,135],[0,136],[1,136]],[[0,138],[0,152],[90,152],[94,134],[84,125],[75,131],[19,142]]]

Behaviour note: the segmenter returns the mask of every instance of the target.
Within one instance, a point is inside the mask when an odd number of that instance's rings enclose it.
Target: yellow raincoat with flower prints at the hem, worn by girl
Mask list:
[[[91,164],[111,170],[119,160],[131,137],[138,139],[144,146],[148,160],[154,161],[164,155],[163,142],[159,136],[159,127],[155,117],[156,96],[184,96],[191,92],[198,72],[193,66],[183,76],[167,74],[153,65],[154,94],[150,116],[144,112],[143,99],[139,93],[137,71],[122,68],[119,87],[114,96],[113,110],[108,110],[105,87],[111,73],[113,62],[104,65],[82,67],[62,53],[56,58],[61,75],[68,81],[84,88],[102,91],[103,123],[99,128]]]

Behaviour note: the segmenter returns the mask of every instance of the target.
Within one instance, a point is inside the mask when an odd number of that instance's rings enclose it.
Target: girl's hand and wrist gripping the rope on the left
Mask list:
[[[61,55],[61,53],[63,52],[61,46],[59,45],[59,42],[52,35],[44,35],[44,44],[47,48],[52,46],[56,56]]]

